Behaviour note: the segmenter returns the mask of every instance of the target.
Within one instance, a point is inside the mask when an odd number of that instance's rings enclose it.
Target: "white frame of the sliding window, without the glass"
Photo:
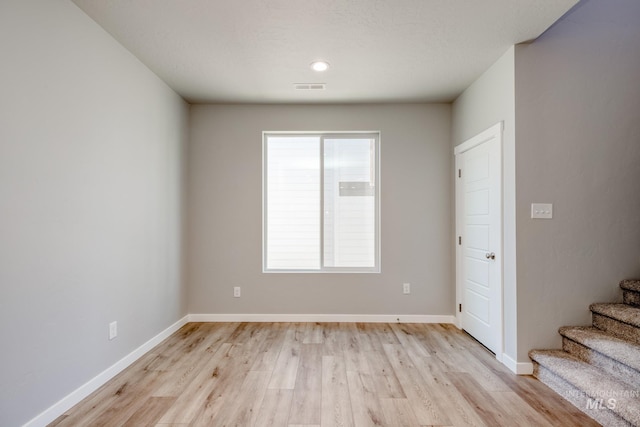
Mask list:
[[[267,159],[267,138],[278,136],[318,136],[320,138],[320,268],[319,269],[273,269],[267,268],[267,176],[268,176],[268,159]],[[374,185],[374,206],[375,206],[375,265],[373,267],[324,267],[324,164],[323,150],[324,139],[326,138],[371,138],[375,141],[375,185]],[[320,131],[320,132],[295,132],[295,131],[263,131],[262,132],[262,272],[263,273],[380,273],[381,257],[380,257],[380,146],[382,135],[380,131]]]

